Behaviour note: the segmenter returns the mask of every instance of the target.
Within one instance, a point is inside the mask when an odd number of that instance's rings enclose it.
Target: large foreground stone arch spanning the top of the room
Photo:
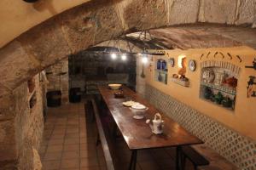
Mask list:
[[[33,27],[0,49],[0,65],[3,65],[0,67],[0,97],[10,94],[21,82],[68,54],[98,42],[131,31],[200,22],[253,26],[253,10],[251,1],[240,0],[236,3],[231,0],[84,3]]]

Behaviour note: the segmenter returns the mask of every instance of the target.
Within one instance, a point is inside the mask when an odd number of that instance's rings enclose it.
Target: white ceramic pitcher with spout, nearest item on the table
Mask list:
[[[156,113],[154,115],[154,120],[152,120],[152,122],[150,122],[150,119],[148,119],[146,123],[149,124],[149,127],[152,130],[152,133],[155,133],[155,134],[163,133],[164,121],[162,120],[160,113]]]

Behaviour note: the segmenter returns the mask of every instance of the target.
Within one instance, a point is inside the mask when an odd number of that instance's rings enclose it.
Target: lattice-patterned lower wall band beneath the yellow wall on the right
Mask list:
[[[256,169],[256,142],[150,85],[146,99],[241,169]]]

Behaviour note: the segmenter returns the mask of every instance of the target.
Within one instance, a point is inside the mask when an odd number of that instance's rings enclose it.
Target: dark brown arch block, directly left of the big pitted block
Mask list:
[[[67,57],[71,50],[57,20],[50,19],[33,27],[17,39],[26,52],[45,68]]]

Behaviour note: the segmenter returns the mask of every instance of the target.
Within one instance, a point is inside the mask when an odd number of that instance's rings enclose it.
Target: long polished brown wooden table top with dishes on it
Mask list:
[[[99,86],[102,98],[108,105],[108,109],[130,150],[203,143],[201,139],[198,139],[193,134],[186,131],[177,122],[174,122],[172,118],[157,111],[153,105],[150,105],[145,99],[133,92],[130,88],[123,86],[122,89],[125,98],[116,99],[113,95],[114,90],[111,90],[107,86]],[[146,111],[143,119],[134,119],[134,115],[129,107],[123,106],[122,102],[131,99],[148,107],[148,111]],[[164,133],[158,135],[152,133],[151,128],[146,123],[148,118],[154,119],[154,114],[157,112],[160,112],[162,119],[165,121]]]

